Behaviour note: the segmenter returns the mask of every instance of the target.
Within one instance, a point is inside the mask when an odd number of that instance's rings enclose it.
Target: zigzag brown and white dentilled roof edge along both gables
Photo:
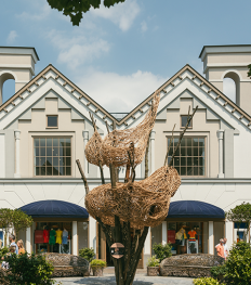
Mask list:
[[[88,106],[91,112],[95,113],[97,117],[102,120],[109,119],[109,122],[116,121],[118,126],[129,126],[133,121],[148,111],[150,107],[151,100],[154,98],[154,92],[145,99],[141,104],[138,104],[133,111],[131,111],[121,120],[117,120],[110,115],[105,108],[103,108],[98,103],[91,99],[85,92],[72,83],[68,78],[66,78],[62,73],[60,73],[53,65],[47,66],[40,74],[38,74],[34,79],[31,79],[26,86],[24,86],[19,91],[17,91],[11,99],[0,106],[0,119],[15,108],[17,98],[25,100],[41,85],[43,85],[49,77],[53,77],[63,88],[67,89],[75,98]],[[195,85],[197,85],[204,93],[215,100],[217,104],[224,107],[233,116],[238,118],[246,127],[250,129],[251,117],[238,107],[233,101],[225,96],[219,89],[216,89],[212,83],[210,83],[204,77],[197,73],[188,64],[180,69],[173,77],[166,81],[158,91],[161,94],[161,99],[167,96],[173,88],[182,83],[185,78],[189,78]],[[18,104],[18,103],[17,103]]]

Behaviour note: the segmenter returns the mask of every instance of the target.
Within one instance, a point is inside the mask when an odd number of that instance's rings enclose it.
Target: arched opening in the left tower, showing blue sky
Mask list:
[[[0,76],[0,105],[15,94],[15,78],[5,73]]]

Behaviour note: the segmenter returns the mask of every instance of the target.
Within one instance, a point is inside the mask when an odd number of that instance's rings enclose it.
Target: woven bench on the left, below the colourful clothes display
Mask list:
[[[82,258],[66,254],[44,254],[47,261],[52,263],[53,277],[89,276],[89,262]]]

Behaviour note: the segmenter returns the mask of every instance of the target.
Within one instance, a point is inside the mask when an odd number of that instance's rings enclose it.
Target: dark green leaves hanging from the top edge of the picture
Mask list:
[[[104,7],[110,8],[111,5],[124,2],[126,0],[104,0]],[[83,13],[87,13],[91,8],[98,9],[101,0],[48,0],[52,9],[63,11],[63,14],[70,17],[74,26],[79,26]]]

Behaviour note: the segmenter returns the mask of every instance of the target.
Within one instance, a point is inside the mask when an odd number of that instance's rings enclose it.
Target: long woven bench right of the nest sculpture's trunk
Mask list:
[[[208,254],[187,254],[166,258],[160,263],[161,276],[210,277],[212,267],[222,264],[224,259]]]

